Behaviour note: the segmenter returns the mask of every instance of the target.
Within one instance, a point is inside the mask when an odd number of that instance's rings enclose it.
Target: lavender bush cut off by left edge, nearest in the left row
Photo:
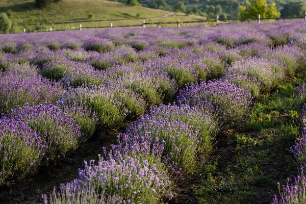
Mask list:
[[[26,122],[0,119],[0,185],[34,172],[46,150],[41,138]]]

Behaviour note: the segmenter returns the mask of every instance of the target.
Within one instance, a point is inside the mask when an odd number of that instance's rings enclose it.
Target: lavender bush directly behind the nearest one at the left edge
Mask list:
[[[77,148],[83,136],[80,126],[75,123],[72,116],[47,103],[36,107],[25,104],[22,108],[13,109],[11,114],[2,115],[2,118],[27,122],[27,125],[45,141],[45,157],[50,160],[56,160],[64,156],[68,150]]]

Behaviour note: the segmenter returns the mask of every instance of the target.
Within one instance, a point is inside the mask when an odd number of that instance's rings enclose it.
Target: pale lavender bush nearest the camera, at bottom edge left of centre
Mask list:
[[[56,189],[49,201],[45,203],[157,203],[163,196],[172,198],[169,191],[171,181],[165,169],[158,165],[149,165],[147,160],[115,154],[108,155],[109,160],[99,156],[98,164],[94,160],[85,162],[84,170],[79,169],[79,179],[61,185],[60,192]]]

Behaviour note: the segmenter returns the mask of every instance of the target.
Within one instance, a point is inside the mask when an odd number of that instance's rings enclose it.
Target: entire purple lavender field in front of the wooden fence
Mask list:
[[[306,202],[305,20],[0,50],[0,203]]]

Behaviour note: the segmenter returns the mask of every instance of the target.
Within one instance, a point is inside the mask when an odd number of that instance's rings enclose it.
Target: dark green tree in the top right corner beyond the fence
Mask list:
[[[290,2],[286,4],[281,11],[284,17],[299,17],[303,16],[306,11],[306,2]]]

